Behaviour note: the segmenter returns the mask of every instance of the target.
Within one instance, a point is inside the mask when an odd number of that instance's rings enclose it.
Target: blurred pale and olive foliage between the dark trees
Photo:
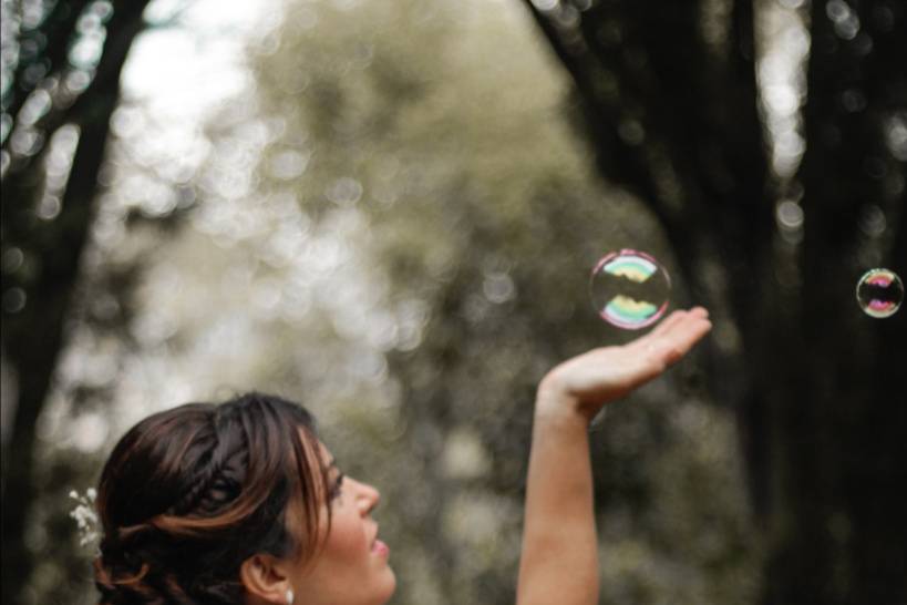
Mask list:
[[[518,3],[280,10],[235,76],[248,86],[204,129],[128,95],[113,114],[87,274],[130,294],[81,300],[123,314],[123,334],[78,316],[42,419],[44,472],[85,461],[58,478],[68,491],[151,411],[281,392],[316,412],[344,472],[382,491],[394,603],[513,602],[535,384],[632,336],[596,317],[589,270],[632,246],[668,266],[674,306],[688,285],[655,217],[596,176]],[[596,432],[605,603],[754,594],[732,421],[694,366]],[[74,411],[78,392],[112,407]],[[64,514],[54,484],[42,493],[39,524]],[[39,602],[71,562],[49,561]]]

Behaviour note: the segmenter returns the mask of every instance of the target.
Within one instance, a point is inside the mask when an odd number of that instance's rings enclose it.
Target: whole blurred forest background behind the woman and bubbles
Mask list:
[[[534,387],[633,336],[627,247],[715,329],[594,429],[601,603],[907,601],[905,314],[854,300],[907,274],[903,3],[259,10],[3,0],[3,603],[92,603],[69,492],[248,389],[381,489],[394,603],[512,603]]]

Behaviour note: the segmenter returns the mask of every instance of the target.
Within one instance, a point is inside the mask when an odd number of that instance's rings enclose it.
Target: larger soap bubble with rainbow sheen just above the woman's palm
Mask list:
[[[638,330],[664,315],[671,278],[651,255],[622,249],[598,262],[589,294],[601,319],[618,328]]]

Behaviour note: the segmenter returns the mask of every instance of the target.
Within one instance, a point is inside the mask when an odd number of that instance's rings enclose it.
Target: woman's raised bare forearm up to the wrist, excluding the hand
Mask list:
[[[588,419],[565,401],[536,401],[526,484],[518,605],[592,605],[598,557]]]

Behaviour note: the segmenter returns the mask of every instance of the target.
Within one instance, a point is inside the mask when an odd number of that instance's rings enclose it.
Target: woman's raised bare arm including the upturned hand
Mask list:
[[[517,605],[598,602],[589,422],[687,355],[711,329],[708,317],[701,307],[674,311],[648,335],[569,359],[539,383]]]

